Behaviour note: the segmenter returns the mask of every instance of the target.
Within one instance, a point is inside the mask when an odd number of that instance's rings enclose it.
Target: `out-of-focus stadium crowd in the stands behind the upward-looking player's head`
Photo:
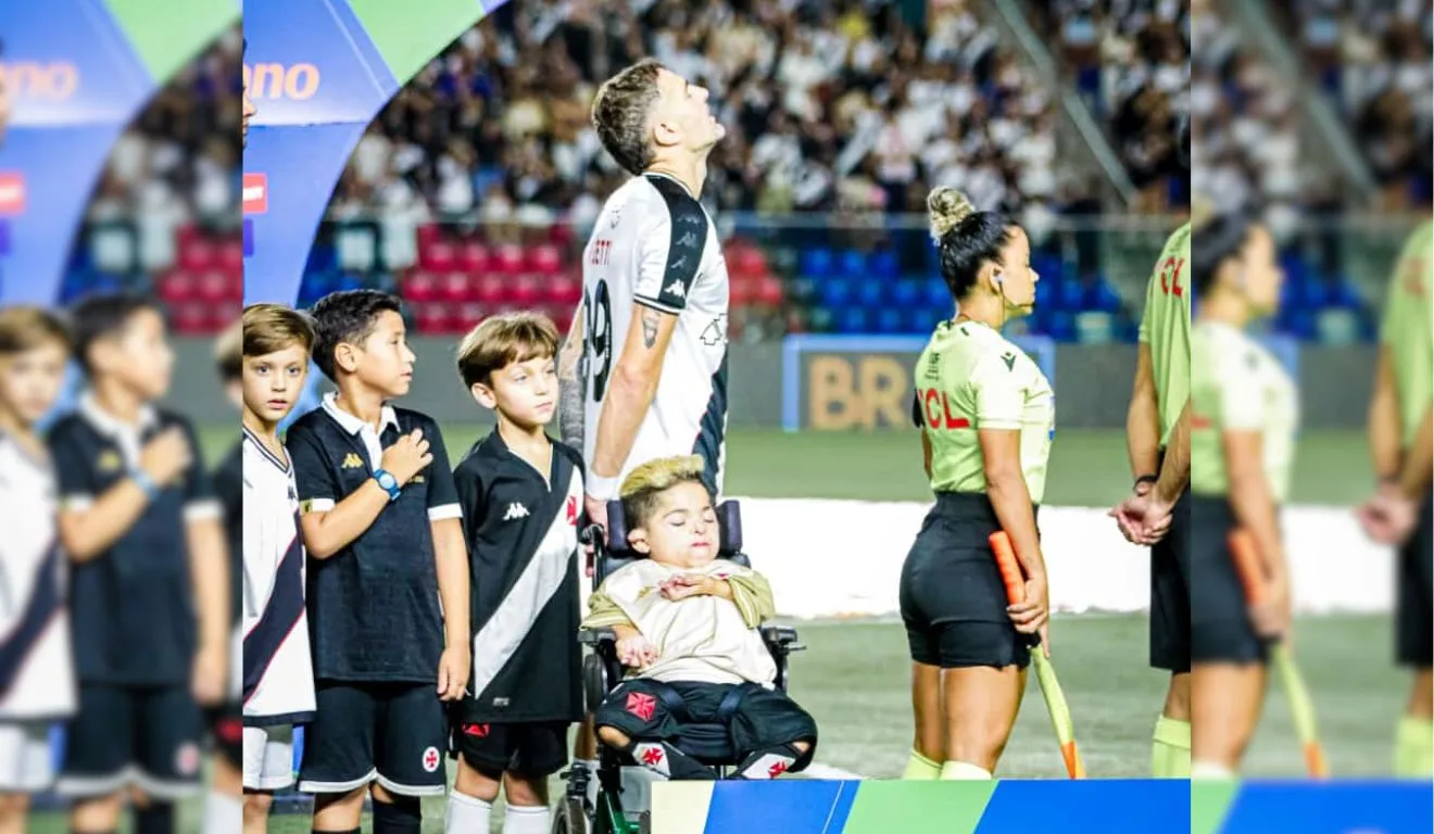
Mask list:
[[[968,0],[509,3],[410,83],[358,145],[334,214],[581,225],[622,175],[597,83],[655,56],[711,90],[720,211],[923,211],[935,185],[1020,212],[1057,196],[1050,96]]]

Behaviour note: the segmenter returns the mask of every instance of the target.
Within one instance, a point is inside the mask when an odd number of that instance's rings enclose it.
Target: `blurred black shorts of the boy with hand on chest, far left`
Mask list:
[[[202,714],[188,685],[82,684],[56,787],[77,798],[132,784],[159,800],[188,797],[201,788],[201,737]]]

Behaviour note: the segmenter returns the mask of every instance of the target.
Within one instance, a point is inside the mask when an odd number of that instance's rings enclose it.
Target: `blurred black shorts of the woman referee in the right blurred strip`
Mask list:
[[[1229,499],[1192,499],[1190,658],[1196,663],[1263,663],[1268,656],[1230,553],[1229,536],[1236,526]]]

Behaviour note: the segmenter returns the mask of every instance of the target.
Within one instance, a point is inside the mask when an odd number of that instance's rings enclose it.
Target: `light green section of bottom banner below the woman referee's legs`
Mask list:
[[[994,781],[863,781],[842,834],[975,834],[995,785]]]

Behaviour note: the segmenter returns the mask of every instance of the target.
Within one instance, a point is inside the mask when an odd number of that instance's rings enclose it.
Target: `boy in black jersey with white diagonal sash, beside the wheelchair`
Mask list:
[[[459,347],[473,398],[498,414],[453,473],[472,565],[473,678],[455,711],[447,830],[546,834],[548,777],[582,718],[578,524],[582,457],[543,430],[556,414],[558,331],[533,314],[489,318]]]

